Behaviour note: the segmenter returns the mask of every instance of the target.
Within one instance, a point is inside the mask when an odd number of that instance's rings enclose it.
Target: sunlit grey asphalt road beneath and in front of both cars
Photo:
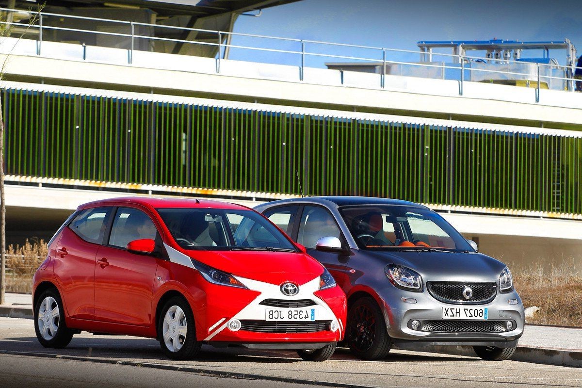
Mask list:
[[[305,362],[293,352],[204,346],[197,359],[176,362],[155,340],[88,333],[46,349],[33,321],[16,318],[0,318],[0,353],[2,387],[582,387],[579,368],[400,350],[360,361],[339,349],[328,361]]]

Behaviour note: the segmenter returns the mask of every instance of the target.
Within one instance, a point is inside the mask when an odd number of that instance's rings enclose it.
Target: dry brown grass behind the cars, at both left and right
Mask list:
[[[34,271],[47,254],[47,244],[42,240],[32,244],[26,241],[22,247],[10,245],[6,251],[6,291],[30,293]],[[573,263],[511,268],[524,307],[540,307],[528,323],[582,326],[582,270]]]

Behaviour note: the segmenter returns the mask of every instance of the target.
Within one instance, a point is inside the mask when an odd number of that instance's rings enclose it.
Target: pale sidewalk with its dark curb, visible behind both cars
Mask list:
[[[0,305],[0,316],[32,319],[30,294],[6,293],[6,304]],[[422,351],[475,357],[473,348],[466,346],[436,346],[423,348]],[[582,367],[582,328],[526,325],[511,359],[535,364]]]

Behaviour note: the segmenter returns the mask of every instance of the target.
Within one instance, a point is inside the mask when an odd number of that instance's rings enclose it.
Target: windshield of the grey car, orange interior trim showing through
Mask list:
[[[428,209],[365,205],[339,210],[361,249],[473,252],[459,232]]]

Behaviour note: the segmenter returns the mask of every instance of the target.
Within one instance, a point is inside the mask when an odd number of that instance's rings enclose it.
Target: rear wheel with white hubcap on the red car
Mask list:
[[[45,348],[63,348],[73,338],[67,328],[65,310],[56,289],[44,291],[34,306],[34,331],[38,342]]]

